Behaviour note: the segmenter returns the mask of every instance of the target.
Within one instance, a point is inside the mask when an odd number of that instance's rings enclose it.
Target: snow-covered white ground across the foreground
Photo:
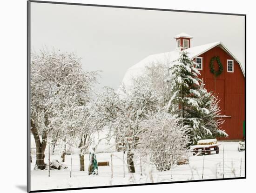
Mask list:
[[[174,166],[171,171],[158,172],[155,166],[148,163],[146,157],[140,159],[135,154],[135,171],[128,173],[128,167],[123,165],[123,153],[113,152],[113,178],[111,178],[111,153],[96,153],[97,161],[109,161],[110,166],[99,166],[99,175],[88,176],[88,154],[85,155],[85,170],[79,171],[79,156],[74,152],[72,156],[72,173],[70,178],[71,156],[66,155],[65,165],[67,169],[50,170],[51,177],[48,177],[46,170],[34,170],[35,156],[31,163],[31,190],[110,186],[125,184],[143,184],[152,182],[170,182],[182,180],[201,180],[244,177],[245,154],[238,152],[238,142],[220,142],[220,153],[205,156],[189,156],[189,164]],[[224,146],[224,156],[222,147]],[[112,148],[113,149],[113,148]],[[204,166],[203,166],[204,157]],[[223,168],[224,157],[224,168]],[[51,160],[60,159],[59,155],[51,155]],[[126,158],[125,158],[126,160]],[[45,162],[47,163],[47,153]],[[126,164],[126,161],[125,161]],[[123,169],[124,172],[123,172]],[[224,169],[224,170],[223,170]],[[125,175],[125,177],[123,176]]]

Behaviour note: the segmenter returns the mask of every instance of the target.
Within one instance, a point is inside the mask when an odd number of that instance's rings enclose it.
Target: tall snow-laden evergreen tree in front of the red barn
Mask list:
[[[198,77],[200,73],[196,66],[197,64],[189,58],[188,52],[184,49],[180,52],[179,59],[170,67],[170,77],[167,79],[171,82],[172,93],[167,106],[168,111],[178,119],[183,127],[187,128],[190,144],[196,144],[198,140],[207,139],[209,136],[214,136],[213,133],[218,132],[217,127],[214,129],[209,127],[208,121],[218,121],[216,111],[219,109],[216,106],[207,105],[211,100],[210,97],[204,97],[202,100],[202,97],[208,96],[208,93]],[[215,113],[209,114],[210,111]],[[208,115],[211,116],[209,120],[206,119]]]

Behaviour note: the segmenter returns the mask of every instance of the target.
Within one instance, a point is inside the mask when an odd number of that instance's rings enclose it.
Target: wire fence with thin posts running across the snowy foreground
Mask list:
[[[52,145],[47,145],[44,152],[44,157],[39,158],[35,148],[31,149],[31,161],[36,166],[45,166],[45,170],[38,169],[36,175],[42,176],[69,176],[80,177],[88,175],[89,152],[86,152],[83,159],[79,156],[78,148],[69,146],[69,150],[64,149],[66,145],[58,145],[53,149]],[[165,151],[166,152],[166,151]],[[244,154],[234,156],[237,150],[220,149],[217,155],[216,150],[205,150],[195,152],[188,150],[189,156],[182,159],[172,159],[171,166],[165,171],[159,172],[156,169],[155,163],[150,160],[149,153],[135,152],[133,154],[133,165],[135,174],[140,176],[153,175],[161,180],[194,180],[194,179],[210,179],[210,178],[229,178],[243,177],[245,175],[245,159]],[[65,157],[63,158],[63,153]],[[192,156],[194,154],[194,156]],[[222,154],[222,155],[221,155]],[[125,152],[108,152],[96,153],[97,162],[103,163],[105,166],[98,166],[99,175],[108,178],[126,178],[130,177],[129,166],[127,162],[127,153]],[[62,157],[61,157],[62,156]],[[36,160],[44,160],[43,165],[36,164]],[[81,167],[81,160],[84,160],[84,165]],[[55,162],[60,165],[60,170],[53,169],[52,165]],[[180,164],[179,164],[180,163]],[[65,169],[64,169],[65,168]],[[84,170],[84,171],[81,171]],[[134,174],[134,173],[132,173]],[[160,178],[160,179],[159,179]]]

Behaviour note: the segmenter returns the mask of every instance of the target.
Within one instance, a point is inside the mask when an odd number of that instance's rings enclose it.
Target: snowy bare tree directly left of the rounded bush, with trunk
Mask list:
[[[159,96],[142,80],[136,80],[135,87],[127,91],[125,87],[120,93],[107,88],[101,94],[99,109],[101,119],[106,120],[117,142],[125,145],[127,152],[128,171],[135,173],[134,153],[143,128],[140,122],[148,118],[148,113],[157,111]]]

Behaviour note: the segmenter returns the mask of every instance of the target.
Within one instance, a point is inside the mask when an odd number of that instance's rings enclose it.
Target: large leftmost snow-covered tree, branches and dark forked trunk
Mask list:
[[[38,168],[45,168],[47,139],[55,141],[54,135],[67,133],[61,131],[72,128],[67,109],[76,112],[79,106],[86,106],[91,100],[96,75],[97,72],[83,72],[80,59],[74,53],[41,51],[31,54],[30,122]]]

